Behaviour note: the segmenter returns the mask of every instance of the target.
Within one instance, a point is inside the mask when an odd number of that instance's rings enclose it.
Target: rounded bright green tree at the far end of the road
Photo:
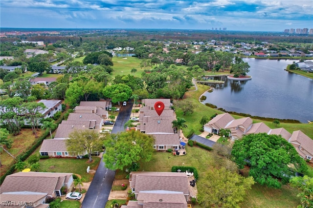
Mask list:
[[[127,101],[132,95],[132,89],[126,84],[112,84],[106,86],[103,91],[106,98],[111,98],[112,103]]]

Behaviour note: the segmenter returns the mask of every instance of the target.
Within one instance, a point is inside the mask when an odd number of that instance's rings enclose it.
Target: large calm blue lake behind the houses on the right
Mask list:
[[[203,102],[226,111],[247,113],[277,119],[313,121],[313,79],[285,71],[298,60],[244,58],[250,65],[249,81],[220,78],[224,84],[210,84],[213,92],[205,92]]]

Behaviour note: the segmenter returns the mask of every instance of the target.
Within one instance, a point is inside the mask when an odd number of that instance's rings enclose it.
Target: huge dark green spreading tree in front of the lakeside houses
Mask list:
[[[266,133],[250,134],[234,143],[231,152],[234,162],[243,168],[250,166],[249,176],[268,187],[280,188],[295,171],[307,169],[305,161],[284,138]]]

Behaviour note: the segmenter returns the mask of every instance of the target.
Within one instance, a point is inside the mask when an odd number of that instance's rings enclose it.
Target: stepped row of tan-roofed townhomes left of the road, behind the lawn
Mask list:
[[[68,115],[66,121],[59,124],[54,139],[45,139],[39,150],[40,155],[49,157],[75,157],[86,152],[68,152],[65,140],[74,130],[100,132],[104,120],[109,117],[108,110],[112,107],[110,101],[82,101]]]

